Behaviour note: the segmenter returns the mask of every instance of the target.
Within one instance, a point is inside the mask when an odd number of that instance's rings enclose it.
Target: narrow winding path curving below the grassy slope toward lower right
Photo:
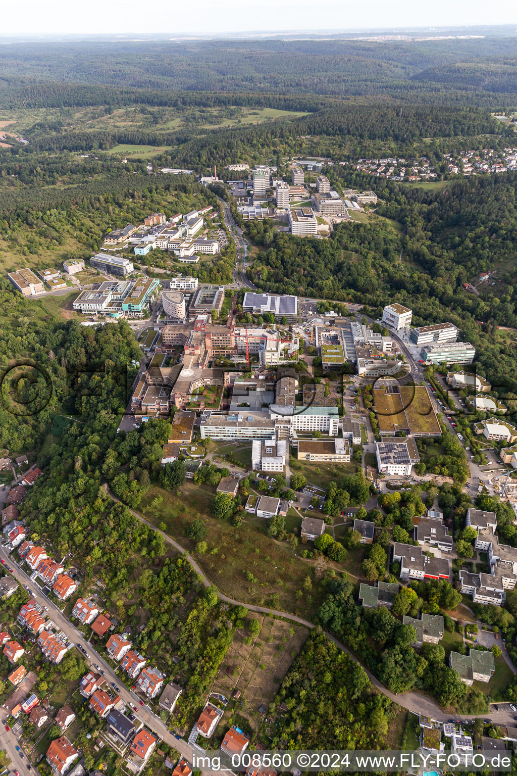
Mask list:
[[[110,497],[112,497],[113,501],[117,501],[119,504],[122,502],[119,501],[119,499],[112,494],[111,490],[107,488],[107,492]],[[205,585],[205,587],[209,587],[212,585],[212,582],[209,580],[208,577],[205,576],[205,573],[202,571],[201,567],[198,565],[198,563],[195,562],[195,559],[191,556],[190,553],[188,553],[183,547],[181,547],[178,542],[176,542],[174,539],[171,539],[171,536],[167,535],[164,532],[161,532],[156,528],[152,523],[147,521],[145,518],[142,517],[141,514],[136,512],[134,509],[130,510],[131,513],[140,521],[142,521],[145,525],[147,525],[149,528],[152,528],[153,531],[157,531],[161,533],[161,535],[164,537],[165,542],[168,542],[172,546],[174,546],[180,553],[182,553],[187,559],[188,562],[191,563],[191,566],[194,568],[195,572],[198,573],[200,579],[202,580],[202,583]],[[277,609],[270,609],[264,606],[255,606],[253,604],[247,604],[243,601],[236,601],[235,598],[229,598],[229,596],[225,595],[224,593],[221,593],[218,591],[219,598],[221,601],[226,601],[226,603],[233,604],[233,605],[242,605],[245,606],[246,609],[249,611],[257,611],[260,614],[264,615],[275,615],[277,617],[283,617],[284,619],[291,620],[291,622],[297,622],[299,625],[305,625],[308,629],[315,628],[315,624],[313,622],[309,622],[308,620],[305,620],[302,617],[298,617],[297,615],[291,615],[287,611],[278,611]],[[360,660],[357,660],[357,657],[354,656],[350,650],[346,648],[346,646],[339,641],[339,639],[336,639],[336,636],[333,636],[331,633],[326,632],[326,636],[334,643],[336,646],[339,647],[339,650],[342,652],[345,652],[347,655],[349,655],[352,660],[355,660],[356,663],[360,663]],[[447,719],[450,718],[450,714],[447,714],[446,712],[443,712],[442,708],[439,707],[439,705],[433,701],[432,698],[428,698],[425,695],[419,695],[416,692],[406,692],[402,695],[395,695],[394,693],[391,693],[387,688],[384,687],[384,684],[381,684],[380,681],[376,677],[374,677],[373,674],[367,668],[363,666],[364,670],[367,673],[368,678],[371,681],[371,684],[374,685],[377,690],[381,691],[383,695],[386,695],[388,698],[390,698],[391,701],[398,704],[399,706],[402,706],[402,708],[407,708],[409,712],[413,712],[415,714],[424,714],[432,716],[433,719],[436,719],[440,722],[446,722]],[[505,707],[505,708],[503,708]],[[480,715],[461,715],[462,719],[477,719],[477,717]],[[508,707],[508,704],[501,704],[499,705],[499,711],[491,711],[489,714],[486,715],[487,719],[488,717],[495,722],[498,725],[512,725],[513,726],[513,712]]]

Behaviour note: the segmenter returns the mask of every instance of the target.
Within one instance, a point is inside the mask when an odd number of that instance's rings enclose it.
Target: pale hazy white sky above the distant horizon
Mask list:
[[[517,25],[515,0],[25,0],[7,6],[0,35]]]

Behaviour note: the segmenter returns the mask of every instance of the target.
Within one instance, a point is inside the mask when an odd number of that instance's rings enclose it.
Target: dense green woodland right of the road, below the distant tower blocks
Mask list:
[[[515,258],[517,174],[467,178],[439,192],[377,185],[388,203],[376,215],[398,221],[402,232],[378,218],[339,223],[328,240],[315,240],[278,233],[267,220],[250,222],[250,239],[262,248],[253,282],[281,293],[361,302],[373,317],[381,314],[388,286],[391,299],[412,308],[414,324],[456,324],[460,338],[478,348],[476,368],[515,400],[515,349],[497,334],[497,326],[517,327],[512,272],[499,293],[476,296],[462,283]]]

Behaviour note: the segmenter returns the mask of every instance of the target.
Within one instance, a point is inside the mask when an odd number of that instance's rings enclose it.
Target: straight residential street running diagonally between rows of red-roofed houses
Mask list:
[[[94,667],[94,670],[95,664],[100,666],[100,668],[105,671],[105,680],[109,684],[115,682],[119,688],[119,695],[122,700],[125,703],[135,705],[137,707],[138,711],[135,713],[138,718],[141,719],[142,722],[153,731],[153,733],[156,733],[160,739],[164,740],[165,743],[168,743],[171,747],[174,747],[175,750],[177,750],[183,757],[186,757],[187,760],[191,762],[193,751],[191,745],[184,740],[178,740],[175,736],[173,736],[169,729],[167,729],[167,726],[164,725],[164,722],[162,722],[159,717],[150,711],[150,708],[148,708],[146,705],[140,705],[138,695],[136,695],[135,692],[129,690],[126,685],[123,684],[121,677],[115,674],[109,663],[107,663],[107,661],[94,650],[93,646],[91,646],[91,644],[89,644],[88,641],[84,639],[82,633],[67,620],[67,618],[57,608],[57,606],[53,605],[52,601],[50,601],[41,593],[40,587],[36,583],[32,582],[30,578],[27,577],[26,573],[24,573],[21,569],[19,569],[18,566],[16,566],[16,563],[13,563],[12,559],[9,558],[9,555],[5,553],[5,549],[0,549],[0,556],[2,556],[7,561],[9,568],[13,568],[13,577],[15,577],[19,584],[28,585],[33,591],[34,598],[36,599],[37,603],[42,607],[47,606],[49,617],[53,620],[55,625],[57,625],[57,627],[67,635],[68,639],[71,639],[71,641],[77,646],[84,646],[84,649],[90,655],[89,660],[84,658],[84,655],[82,655],[84,660],[87,660],[87,662],[90,663],[92,667]],[[3,726],[2,729],[4,733],[8,735]],[[10,735],[12,735],[12,733]],[[16,764],[18,764],[18,761],[22,761],[19,755],[17,755],[16,758],[12,757],[11,759],[15,761]],[[210,773],[210,771],[206,771],[206,773]],[[24,774],[24,776],[28,776],[28,774]]]

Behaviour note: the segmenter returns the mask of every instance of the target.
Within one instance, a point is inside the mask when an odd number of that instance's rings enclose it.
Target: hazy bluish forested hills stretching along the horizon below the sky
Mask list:
[[[414,42],[11,43],[0,54],[0,66],[5,99],[17,104],[40,103],[45,82],[53,82],[55,102],[69,99],[70,92],[55,85],[59,81],[80,84],[90,99],[98,94],[92,87],[113,85],[500,106],[515,104],[516,91],[515,38],[490,35]],[[24,93],[27,81],[42,85]]]

